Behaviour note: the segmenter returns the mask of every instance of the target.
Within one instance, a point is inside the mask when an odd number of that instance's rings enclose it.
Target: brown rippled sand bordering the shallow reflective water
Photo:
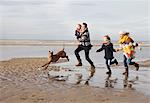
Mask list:
[[[150,103],[150,96],[116,90],[66,84],[42,78],[38,68],[46,58],[16,58],[0,62],[0,103]],[[150,60],[140,62],[150,67]],[[51,69],[58,67],[51,66]]]

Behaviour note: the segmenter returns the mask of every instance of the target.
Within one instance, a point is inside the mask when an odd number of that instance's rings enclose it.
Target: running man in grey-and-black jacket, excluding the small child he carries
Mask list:
[[[86,60],[90,63],[92,68],[95,68],[93,62],[89,58],[89,51],[92,45],[90,42],[90,35],[86,23],[82,23],[81,30],[78,33],[79,35],[75,34],[77,36],[77,40],[80,42],[78,48],[75,50],[75,55],[78,60],[78,64],[76,66],[82,66],[82,60],[80,58],[79,52],[84,50]]]

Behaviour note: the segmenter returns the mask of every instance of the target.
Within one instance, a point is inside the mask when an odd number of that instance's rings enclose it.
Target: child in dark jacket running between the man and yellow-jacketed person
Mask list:
[[[114,63],[118,65],[118,62],[113,56],[113,52],[116,52],[116,50],[113,48],[113,44],[111,43],[110,37],[108,35],[104,36],[104,43],[102,44],[102,47],[98,49],[96,52],[101,52],[102,50],[105,50],[104,58],[106,60],[106,66],[108,69],[108,72],[106,72],[106,74],[111,74],[110,65]],[[108,62],[110,63],[108,64]]]

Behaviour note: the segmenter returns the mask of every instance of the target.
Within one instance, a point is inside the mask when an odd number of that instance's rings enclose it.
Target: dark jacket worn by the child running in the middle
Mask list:
[[[113,52],[116,52],[116,50],[113,48],[112,43],[103,43],[102,47],[98,49],[96,52],[101,52],[102,50],[105,50],[105,59],[113,59]]]

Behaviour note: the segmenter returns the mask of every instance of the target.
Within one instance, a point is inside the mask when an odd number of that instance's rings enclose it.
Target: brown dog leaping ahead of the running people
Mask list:
[[[47,67],[49,66],[50,63],[57,62],[59,60],[59,58],[67,58],[67,60],[69,61],[69,58],[66,55],[66,52],[64,51],[64,48],[61,51],[59,51],[58,53],[56,53],[55,55],[53,55],[53,52],[49,51],[48,52],[48,62],[46,64],[44,64],[42,67],[45,67],[44,69],[47,69]]]

